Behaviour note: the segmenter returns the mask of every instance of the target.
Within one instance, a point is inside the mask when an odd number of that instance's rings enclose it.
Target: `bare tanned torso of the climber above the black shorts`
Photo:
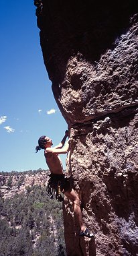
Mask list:
[[[62,162],[58,154],[53,154],[52,152],[46,152],[45,150],[44,156],[46,158],[46,163],[48,164],[48,167],[50,168],[51,173],[63,174]]]

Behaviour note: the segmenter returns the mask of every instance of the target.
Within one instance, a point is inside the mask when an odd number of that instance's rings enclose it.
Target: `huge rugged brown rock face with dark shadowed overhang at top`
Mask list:
[[[95,239],[64,203],[68,256],[138,252],[136,1],[35,1],[44,63],[70,130],[67,168]]]

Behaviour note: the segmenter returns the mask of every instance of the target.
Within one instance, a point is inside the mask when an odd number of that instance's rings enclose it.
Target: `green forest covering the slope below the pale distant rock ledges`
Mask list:
[[[1,199],[0,210],[0,256],[66,255],[62,203],[51,200],[46,187],[33,186],[29,193]],[[51,232],[51,217],[57,237]]]

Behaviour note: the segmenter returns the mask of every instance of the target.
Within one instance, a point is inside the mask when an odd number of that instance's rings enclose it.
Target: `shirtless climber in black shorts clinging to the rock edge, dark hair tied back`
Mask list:
[[[58,154],[66,154],[68,152],[69,143],[66,141],[67,137],[68,131],[65,132],[65,135],[58,146],[52,148],[52,139],[44,135],[38,139],[39,146],[36,146],[36,152],[44,149],[46,163],[48,164],[51,172],[49,186],[57,189],[58,185],[60,184],[60,191],[64,192],[66,197],[72,201],[74,214],[76,218],[78,218],[78,223],[80,225],[80,236],[92,238],[94,237],[94,234],[91,233],[83,224],[82,212],[80,210],[80,199],[78,198],[78,195],[74,189],[71,188],[68,178],[64,176],[62,162],[58,156]]]

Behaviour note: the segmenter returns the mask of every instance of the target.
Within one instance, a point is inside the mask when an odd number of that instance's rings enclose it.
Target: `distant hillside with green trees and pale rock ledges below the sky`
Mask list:
[[[47,195],[49,172],[1,172],[0,255],[65,256],[62,203]]]

